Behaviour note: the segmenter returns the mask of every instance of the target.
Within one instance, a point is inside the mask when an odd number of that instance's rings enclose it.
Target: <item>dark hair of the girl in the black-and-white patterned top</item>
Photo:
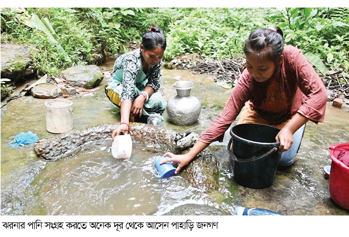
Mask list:
[[[161,48],[165,50],[166,39],[163,31],[160,28],[151,26],[150,31],[145,33],[142,37],[142,45],[147,50],[152,50],[161,45]]]

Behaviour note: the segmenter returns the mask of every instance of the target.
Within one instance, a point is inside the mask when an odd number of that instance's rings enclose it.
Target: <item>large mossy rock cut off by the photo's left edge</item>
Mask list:
[[[31,66],[31,47],[17,44],[1,44],[1,78],[9,78],[12,82],[33,74]]]

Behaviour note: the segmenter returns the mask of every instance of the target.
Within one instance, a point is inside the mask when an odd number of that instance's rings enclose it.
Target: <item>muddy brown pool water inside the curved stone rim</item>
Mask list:
[[[25,207],[26,215],[153,215],[166,213],[183,200],[204,203],[199,190],[181,176],[158,179],[151,174],[162,152],[133,144],[131,158],[111,155],[105,145],[81,149],[76,154],[48,162],[27,189],[36,197]]]

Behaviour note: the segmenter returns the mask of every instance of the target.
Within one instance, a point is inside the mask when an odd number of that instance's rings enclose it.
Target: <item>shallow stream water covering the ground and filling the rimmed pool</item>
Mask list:
[[[220,113],[231,89],[217,86],[205,75],[163,70],[160,91],[166,100],[176,94],[172,85],[177,80],[194,82],[191,95],[202,103],[199,121],[180,127],[172,124],[165,112],[163,127],[201,133]],[[69,98],[74,103],[74,128],[120,121],[119,110],[104,94],[105,83],[94,92]],[[296,164],[278,169],[273,185],[267,189],[244,188],[231,179],[227,130],[222,143],[208,148],[219,161],[220,188],[204,192],[180,175],[154,177],[154,161],[165,151],[146,144],[134,142],[129,160],[114,159],[111,139],[106,139],[50,162],[37,158],[33,145],[9,147],[20,132],[32,131],[40,139],[53,136],[46,131],[45,101],[23,97],[1,108],[1,215],[162,215],[175,211],[183,215],[229,215],[236,205],[286,215],[349,215],[330,198],[323,171],[324,166],[331,165],[328,147],[349,142],[349,113],[330,104],[324,123],[307,123]],[[181,209],[186,204],[198,208]]]

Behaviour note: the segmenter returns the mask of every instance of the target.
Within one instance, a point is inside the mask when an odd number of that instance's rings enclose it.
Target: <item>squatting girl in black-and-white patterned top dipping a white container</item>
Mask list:
[[[157,90],[165,48],[163,31],[151,26],[143,35],[139,49],[116,59],[112,77],[105,86],[107,97],[120,108],[121,121],[111,134],[113,139],[115,135],[129,132],[129,122],[147,121],[151,114],[157,114],[163,120],[166,101]]]

